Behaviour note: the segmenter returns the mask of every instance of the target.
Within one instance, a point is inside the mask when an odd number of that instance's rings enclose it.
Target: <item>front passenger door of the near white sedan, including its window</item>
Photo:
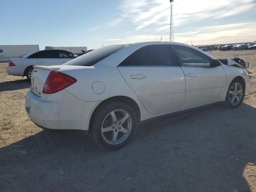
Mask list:
[[[172,45],[186,78],[183,108],[219,101],[223,95],[226,73],[212,58],[187,46]]]

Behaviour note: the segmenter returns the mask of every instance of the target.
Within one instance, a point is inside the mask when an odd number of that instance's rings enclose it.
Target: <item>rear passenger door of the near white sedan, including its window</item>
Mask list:
[[[160,114],[182,107],[185,77],[169,45],[144,46],[118,70],[148,112]]]

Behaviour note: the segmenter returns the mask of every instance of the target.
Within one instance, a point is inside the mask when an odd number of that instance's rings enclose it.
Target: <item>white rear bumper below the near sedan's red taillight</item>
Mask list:
[[[56,130],[88,130],[90,117],[97,105],[98,102],[82,101],[66,90],[58,92],[57,99],[53,96],[46,100],[30,89],[25,101],[28,117],[35,124]]]

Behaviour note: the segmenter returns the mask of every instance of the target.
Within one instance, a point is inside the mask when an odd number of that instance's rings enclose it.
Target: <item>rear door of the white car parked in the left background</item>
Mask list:
[[[58,59],[58,55],[55,50],[44,50],[38,52],[37,64],[38,65],[59,65],[60,61]]]

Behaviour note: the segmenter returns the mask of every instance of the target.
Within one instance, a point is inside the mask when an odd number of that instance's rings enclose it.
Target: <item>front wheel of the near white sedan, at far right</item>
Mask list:
[[[228,87],[225,106],[237,108],[244,100],[244,84],[241,80],[233,80]]]

